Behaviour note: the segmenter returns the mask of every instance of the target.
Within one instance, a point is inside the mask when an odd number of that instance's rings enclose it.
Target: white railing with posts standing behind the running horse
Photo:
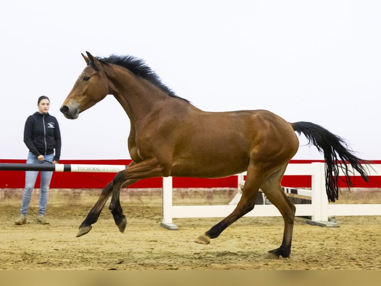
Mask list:
[[[373,164],[369,168],[369,173],[370,176],[380,176],[381,164]],[[381,204],[328,204],[324,163],[291,163],[288,164],[285,175],[311,175],[311,204],[295,204],[295,216],[311,216],[312,221],[326,222],[329,216],[381,215]],[[359,173],[355,171],[354,175],[359,176]],[[235,205],[174,206],[172,177],[163,178],[163,222],[161,225],[164,227],[177,229],[177,226],[173,224],[173,218],[226,217],[234,208]],[[256,205],[245,216],[281,216],[281,214],[274,205]]]

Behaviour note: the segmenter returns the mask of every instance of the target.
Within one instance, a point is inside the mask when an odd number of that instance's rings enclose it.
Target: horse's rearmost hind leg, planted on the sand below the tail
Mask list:
[[[282,245],[277,249],[270,250],[266,256],[268,259],[279,258],[280,256],[286,258],[289,257],[291,252],[295,206],[287,198],[281,187],[281,179],[285,170],[286,167],[282,171],[274,173],[261,185],[262,191],[265,193],[270,202],[280,211],[285,223]]]

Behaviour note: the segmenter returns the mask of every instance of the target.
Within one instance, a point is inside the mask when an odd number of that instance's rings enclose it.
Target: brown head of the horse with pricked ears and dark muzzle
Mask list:
[[[82,54],[87,66],[75,82],[60,111],[68,119],[77,119],[79,114],[109,94],[109,82],[100,61],[86,52]]]

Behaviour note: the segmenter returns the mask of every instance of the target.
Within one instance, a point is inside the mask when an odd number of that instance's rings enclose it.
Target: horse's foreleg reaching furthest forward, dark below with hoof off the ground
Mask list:
[[[82,222],[77,233],[77,237],[87,234],[92,229],[92,224],[94,224],[100,215],[106,201],[110,197],[112,192],[112,182],[109,182],[102,190],[98,200],[96,201],[94,207],[90,210],[86,219]]]

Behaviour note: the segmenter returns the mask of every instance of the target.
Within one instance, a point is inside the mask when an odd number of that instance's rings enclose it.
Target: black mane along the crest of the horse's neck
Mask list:
[[[169,96],[180,98],[182,100],[185,100],[186,102],[189,102],[188,100],[181,98],[180,96],[177,96],[174,91],[172,91],[168,86],[163,84],[160,80],[160,77],[149,66],[147,66],[143,59],[139,59],[130,55],[111,55],[107,58],[98,58],[98,60],[103,63],[115,64],[124,67],[128,69],[130,72],[132,72],[134,75],[142,77],[151,82],[152,84],[156,85]]]

